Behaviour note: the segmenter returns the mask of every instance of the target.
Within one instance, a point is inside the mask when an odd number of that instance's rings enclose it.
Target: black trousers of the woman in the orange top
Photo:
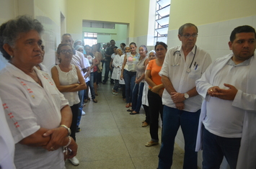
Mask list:
[[[150,114],[150,135],[151,140],[154,142],[159,142],[158,137],[158,128],[159,128],[159,113],[161,119],[163,119],[163,104],[162,104],[162,97],[159,94],[152,92],[149,90],[148,93],[148,100],[149,100],[149,114]]]

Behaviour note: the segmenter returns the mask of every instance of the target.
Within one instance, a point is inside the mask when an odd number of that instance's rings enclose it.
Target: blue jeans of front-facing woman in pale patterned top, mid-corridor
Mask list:
[[[133,87],[135,85],[136,72],[123,70],[123,78],[125,79],[125,97],[126,103],[132,103]]]

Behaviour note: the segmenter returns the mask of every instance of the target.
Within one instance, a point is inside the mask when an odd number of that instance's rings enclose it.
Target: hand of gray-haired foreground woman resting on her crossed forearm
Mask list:
[[[58,127],[55,129],[49,129],[43,134],[43,137],[50,136],[50,141],[44,147],[48,151],[57,150],[59,147],[62,147],[63,140],[67,136],[68,131],[64,127]]]

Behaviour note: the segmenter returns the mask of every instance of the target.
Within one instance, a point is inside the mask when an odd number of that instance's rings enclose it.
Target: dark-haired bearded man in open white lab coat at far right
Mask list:
[[[202,141],[203,169],[219,168],[224,156],[231,169],[256,168],[255,47],[255,29],[236,27],[232,53],[216,59],[196,81],[205,98],[197,145],[198,150]]]

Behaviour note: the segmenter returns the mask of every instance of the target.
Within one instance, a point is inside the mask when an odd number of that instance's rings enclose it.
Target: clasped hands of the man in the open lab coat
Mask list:
[[[211,94],[219,99],[234,100],[234,97],[237,95],[237,88],[226,83],[224,83],[224,86],[228,87],[229,89],[215,88],[216,92]]]

